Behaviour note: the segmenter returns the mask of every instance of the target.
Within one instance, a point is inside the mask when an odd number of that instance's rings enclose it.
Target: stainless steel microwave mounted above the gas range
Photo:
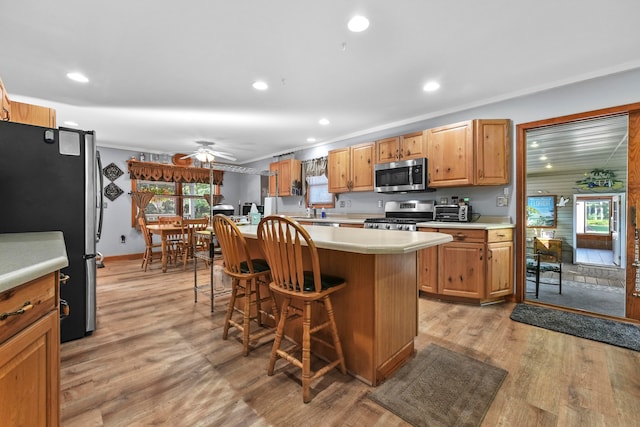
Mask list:
[[[432,191],[428,188],[426,158],[379,163],[374,172],[378,193]]]

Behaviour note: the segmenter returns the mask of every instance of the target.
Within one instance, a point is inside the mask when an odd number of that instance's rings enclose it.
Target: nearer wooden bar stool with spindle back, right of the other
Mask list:
[[[271,270],[269,288],[283,297],[279,311],[276,337],[269,359],[268,375],[273,375],[278,358],[302,370],[302,400],[311,400],[311,382],[322,377],[335,367],[346,374],[344,354],[331,305],[331,294],[346,286],[340,277],[324,275],[320,271],[320,260],[315,243],[309,233],[294,219],[286,216],[267,216],[258,225],[258,241]],[[308,259],[305,268],[304,261]],[[312,307],[321,306],[326,312],[312,316]],[[302,307],[302,308],[300,308]],[[302,339],[293,347],[282,349],[282,339],[288,321],[302,318]],[[312,323],[317,323],[312,325]],[[315,335],[328,329],[331,341]],[[311,341],[320,342],[325,348],[335,351],[335,360],[329,361],[315,372],[311,371]],[[301,351],[301,357],[297,357]]]

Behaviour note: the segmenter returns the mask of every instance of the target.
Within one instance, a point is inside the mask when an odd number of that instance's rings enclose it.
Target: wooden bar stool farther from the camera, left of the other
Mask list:
[[[231,326],[236,327],[242,332],[244,355],[247,356],[250,342],[274,332],[273,328],[264,328],[250,333],[252,320],[264,327],[264,317],[271,318],[274,322],[277,318],[277,306],[271,293],[267,297],[260,296],[260,282],[270,281],[269,266],[263,259],[251,259],[244,236],[226,215],[217,214],[213,217],[213,229],[222,251],[224,272],[231,277],[231,299],[227,307],[222,339],[227,339]],[[236,307],[237,298],[244,298],[242,310]],[[271,300],[273,314],[262,308],[263,303],[268,300]],[[233,320],[233,313],[236,311],[242,313],[242,322]]]

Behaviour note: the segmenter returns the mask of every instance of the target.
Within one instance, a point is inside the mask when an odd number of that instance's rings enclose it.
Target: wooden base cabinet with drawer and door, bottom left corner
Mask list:
[[[30,307],[0,320],[3,424],[59,425],[58,298],[58,272],[0,294],[0,313]]]

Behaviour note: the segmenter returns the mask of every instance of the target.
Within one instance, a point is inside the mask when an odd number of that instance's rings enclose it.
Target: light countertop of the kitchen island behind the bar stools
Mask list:
[[[449,234],[369,230],[364,228],[305,225],[318,248],[362,254],[403,254],[453,240]],[[240,231],[248,238],[257,238],[257,225],[243,225]]]

